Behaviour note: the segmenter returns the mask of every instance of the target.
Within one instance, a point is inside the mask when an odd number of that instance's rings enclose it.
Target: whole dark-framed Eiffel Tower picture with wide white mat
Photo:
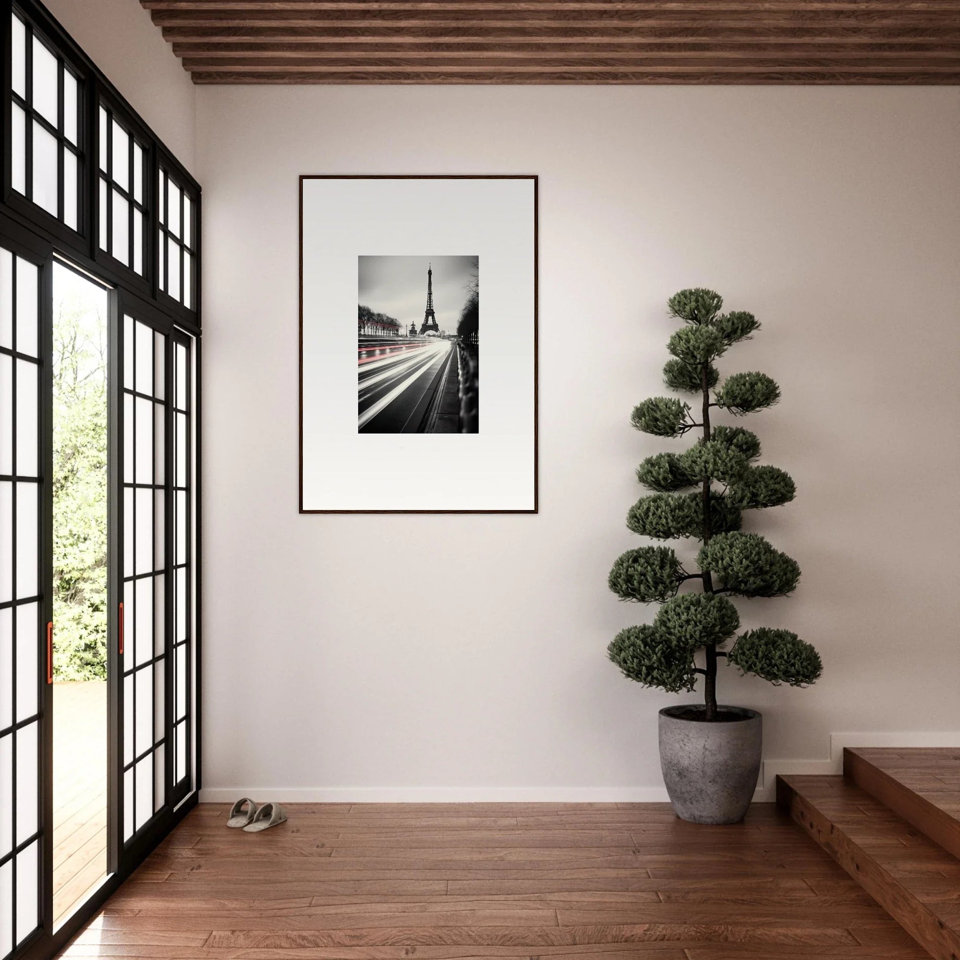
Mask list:
[[[536,177],[300,177],[300,513],[537,513]]]

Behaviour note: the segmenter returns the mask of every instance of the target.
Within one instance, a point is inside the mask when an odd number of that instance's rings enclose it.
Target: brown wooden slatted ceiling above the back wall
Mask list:
[[[200,84],[956,84],[960,0],[141,0]]]

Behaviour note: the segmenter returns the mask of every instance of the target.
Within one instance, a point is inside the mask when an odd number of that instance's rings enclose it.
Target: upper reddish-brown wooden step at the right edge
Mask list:
[[[848,747],[848,780],[960,857],[960,748]]]

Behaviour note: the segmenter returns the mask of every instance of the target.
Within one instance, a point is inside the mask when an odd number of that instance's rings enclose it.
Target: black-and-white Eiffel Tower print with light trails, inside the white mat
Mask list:
[[[357,276],[359,432],[477,433],[479,258],[361,255]]]

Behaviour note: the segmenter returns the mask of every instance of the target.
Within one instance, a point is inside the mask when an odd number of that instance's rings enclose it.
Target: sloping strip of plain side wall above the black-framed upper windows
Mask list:
[[[180,163],[196,175],[190,75],[137,0],[43,0]]]

